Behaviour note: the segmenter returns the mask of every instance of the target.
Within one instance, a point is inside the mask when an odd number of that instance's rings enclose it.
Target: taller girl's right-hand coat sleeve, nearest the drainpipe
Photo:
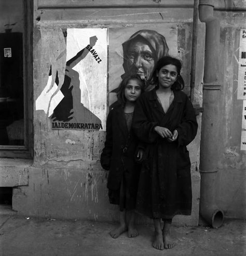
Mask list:
[[[197,128],[198,124],[192,102],[186,97],[182,120],[176,128],[179,133],[177,138],[179,146],[187,146],[192,142],[196,137]]]

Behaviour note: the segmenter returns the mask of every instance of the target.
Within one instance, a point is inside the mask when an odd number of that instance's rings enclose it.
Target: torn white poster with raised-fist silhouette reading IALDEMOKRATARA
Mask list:
[[[60,77],[56,71],[52,82],[54,75],[50,65],[47,85],[36,100],[36,110],[46,112],[52,129],[105,130],[107,30],[67,29],[63,30],[63,35],[66,43],[64,76]]]

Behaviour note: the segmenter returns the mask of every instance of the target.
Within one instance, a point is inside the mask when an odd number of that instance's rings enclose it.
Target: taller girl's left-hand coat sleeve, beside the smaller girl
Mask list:
[[[157,122],[151,122],[148,118],[147,113],[149,113],[149,110],[147,110],[147,104],[145,104],[144,101],[145,99],[140,97],[138,102],[136,102],[132,119],[132,128],[140,141],[153,143],[158,138],[158,134],[154,131]]]

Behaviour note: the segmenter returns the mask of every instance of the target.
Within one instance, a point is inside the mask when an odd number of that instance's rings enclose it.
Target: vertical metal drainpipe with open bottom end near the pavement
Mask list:
[[[213,17],[213,0],[199,1],[199,19],[206,23],[203,77],[203,114],[200,148],[200,214],[212,227],[220,227],[224,213],[216,205],[216,174],[220,141],[219,49],[220,20]]]

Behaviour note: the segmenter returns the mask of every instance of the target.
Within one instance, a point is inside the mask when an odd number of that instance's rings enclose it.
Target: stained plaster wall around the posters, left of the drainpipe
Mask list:
[[[152,23],[153,28],[155,23],[176,24],[177,50],[184,64],[182,75],[186,84],[185,92],[189,94],[193,1],[185,1],[184,6],[180,6],[177,1],[158,5],[159,1],[146,0],[141,1],[139,6],[134,2],[133,8],[114,6],[108,9],[97,5],[91,8],[91,1],[85,1],[89,3],[88,8],[81,8],[73,1],[70,6],[73,9],[70,9],[67,8],[68,2],[63,1],[65,6],[61,9],[56,8],[56,1],[34,1],[34,102],[46,86],[50,58],[56,58],[56,52],[60,50],[64,39],[61,28],[122,28],[139,23]],[[112,5],[111,1],[105,3],[107,7]],[[194,101],[201,105],[204,24],[199,23],[198,28],[196,58],[199,62],[196,62]],[[63,66],[60,64],[56,68],[62,70]],[[34,161],[22,167],[28,172],[28,181],[25,180],[26,184],[19,186],[15,183],[13,209],[20,214],[50,218],[117,220],[118,208],[108,203],[107,172],[100,166],[105,131],[51,130],[48,116],[43,111],[36,111],[35,107],[33,111]],[[176,216],[174,219],[174,222],[187,225],[197,225],[199,217],[201,114],[197,118],[199,131],[188,147],[192,162],[192,216]],[[3,176],[3,180],[6,181],[6,176]],[[139,218],[139,222],[148,221]]]

